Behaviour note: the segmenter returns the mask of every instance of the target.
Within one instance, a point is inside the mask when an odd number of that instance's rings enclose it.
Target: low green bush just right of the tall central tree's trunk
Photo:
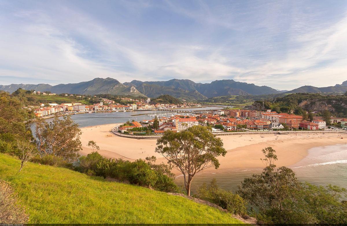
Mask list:
[[[204,183],[200,188],[198,188],[194,196],[213,202],[223,209],[227,209],[232,214],[243,216],[247,213],[245,200],[238,194],[233,194],[231,191],[219,188],[215,179],[211,181],[208,188]]]

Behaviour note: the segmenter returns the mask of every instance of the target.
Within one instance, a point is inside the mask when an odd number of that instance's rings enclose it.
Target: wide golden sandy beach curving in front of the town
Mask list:
[[[130,139],[119,137],[110,130],[117,124],[98,125],[81,128],[81,142],[83,150],[80,154],[87,155],[91,149],[87,146],[88,141],[94,140],[100,147],[99,153],[109,158],[122,158],[135,160],[147,156],[156,156],[157,162],[166,162],[158,153],[155,153],[156,139]],[[344,139],[341,139],[343,137]],[[261,150],[272,147],[276,150],[277,165],[291,166],[306,158],[307,151],[313,147],[345,144],[347,134],[242,134],[232,136],[220,136],[224,148],[228,151],[225,157],[219,157],[219,169],[232,168],[259,168],[263,167],[260,158],[263,157]],[[206,171],[213,171],[208,169]]]

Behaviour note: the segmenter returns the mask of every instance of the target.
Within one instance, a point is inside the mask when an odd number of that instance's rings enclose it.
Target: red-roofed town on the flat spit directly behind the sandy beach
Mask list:
[[[131,135],[162,135],[165,131],[179,132],[194,125],[211,127],[213,133],[237,131],[281,131],[281,130],[337,130],[347,129],[347,119],[331,118],[341,128],[329,127],[321,116],[305,120],[301,115],[277,113],[271,110],[213,110],[204,114],[164,113],[155,119],[127,122],[118,127],[118,132]],[[168,117],[169,116],[169,117]],[[147,132],[146,132],[147,131]]]

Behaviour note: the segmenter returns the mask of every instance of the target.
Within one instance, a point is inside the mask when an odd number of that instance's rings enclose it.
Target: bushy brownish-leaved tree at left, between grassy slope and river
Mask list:
[[[78,151],[82,149],[79,136],[81,130],[70,116],[58,117],[50,123],[43,119],[36,121],[35,135],[38,141],[40,154],[60,156],[67,161],[74,161]]]

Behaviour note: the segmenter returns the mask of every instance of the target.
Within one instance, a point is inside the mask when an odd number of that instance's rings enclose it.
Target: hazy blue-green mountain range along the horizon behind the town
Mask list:
[[[158,97],[171,95],[186,100],[201,100],[217,96],[229,95],[264,95],[280,93],[344,93],[347,91],[347,81],[329,87],[302,86],[290,91],[277,90],[268,86],[257,86],[232,79],[215,80],[211,83],[196,83],[189,79],[171,79],[168,81],[138,81],[124,82],[123,84],[113,78],[95,78],[91,81],[79,83],[59,84],[11,84],[0,85],[0,90],[14,92],[18,88],[36,91],[50,91],[52,93],[70,94],[112,94],[131,95],[142,97]]]

